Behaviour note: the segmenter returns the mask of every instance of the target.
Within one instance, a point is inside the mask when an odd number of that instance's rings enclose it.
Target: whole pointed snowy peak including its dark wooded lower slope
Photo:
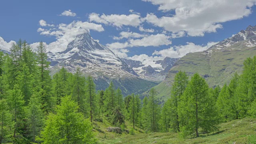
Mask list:
[[[62,67],[72,73],[79,68],[85,76],[94,77],[96,90],[105,90],[113,81],[116,88],[120,87],[126,96],[131,93],[142,94],[158,84],[141,79],[126,62],[94,40],[89,31],[76,36],[63,52],[48,52],[48,60],[51,62],[51,75]]]

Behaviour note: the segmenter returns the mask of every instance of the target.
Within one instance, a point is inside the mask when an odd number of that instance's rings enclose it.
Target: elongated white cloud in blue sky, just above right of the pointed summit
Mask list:
[[[113,25],[118,28],[121,28],[122,26],[139,26],[142,22],[140,15],[138,14],[130,14],[130,15],[118,15],[118,14],[111,14],[111,15],[105,15],[102,14],[96,14],[91,13],[89,15],[90,22],[97,22],[102,24],[108,24]]]

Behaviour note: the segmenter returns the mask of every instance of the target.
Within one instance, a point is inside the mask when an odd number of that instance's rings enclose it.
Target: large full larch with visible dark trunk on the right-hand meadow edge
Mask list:
[[[178,103],[182,136],[198,137],[199,128],[204,132],[216,130],[218,114],[212,100],[208,84],[199,74],[194,74]]]

